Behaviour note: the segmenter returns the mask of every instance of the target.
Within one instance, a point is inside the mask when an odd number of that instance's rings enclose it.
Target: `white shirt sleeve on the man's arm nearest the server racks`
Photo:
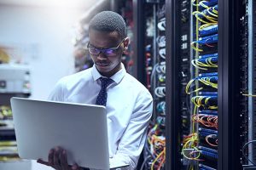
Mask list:
[[[145,92],[145,91],[144,91]],[[125,129],[116,154],[110,158],[110,164],[114,166],[129,164],[125,169],[133,170],[137,167],[137,161],[145,144],[148,122],[152,116],[153,99],[147,91],[137,97],[131,120]],[[122,168],[123,169],[123,168]]]

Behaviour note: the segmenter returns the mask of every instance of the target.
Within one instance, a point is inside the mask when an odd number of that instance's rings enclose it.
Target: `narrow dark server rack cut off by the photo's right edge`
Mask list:
[[[243,169],[255,169],[255,8],[256,2],[252,0],[239,3],[237,17],[240,19],[238,25],[240,55],[240,166]],[[237,32],[238,33],[238,32]],[[236,144],[237,144],[236,143]]]

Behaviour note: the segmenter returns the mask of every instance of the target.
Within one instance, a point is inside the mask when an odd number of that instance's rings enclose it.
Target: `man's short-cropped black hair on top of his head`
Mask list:
[[[96,14],[89,23],[89,31],[117,31],[119,36],[124,39],[127,36],[127,28],[123,17],[113,11],[102,11]]]

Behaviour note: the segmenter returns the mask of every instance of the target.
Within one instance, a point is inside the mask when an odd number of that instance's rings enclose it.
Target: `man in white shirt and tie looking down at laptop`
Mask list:
[[[121,63],[129,44],[125,20],[111,11],[96,14],[90,20],[89,38],[93,67],[62,78],[49,99],[106,105],[109,161],[113,165],[129,164],[129,169],[135,169],[145,143],[153,99]],[[68,167],[67,159],[66,150],[57,147],[49,151],[48,162],[38,162],[55,169],[80,169],[78,165]]]

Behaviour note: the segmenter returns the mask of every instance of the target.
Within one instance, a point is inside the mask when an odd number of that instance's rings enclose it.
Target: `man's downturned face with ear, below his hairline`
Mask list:
[[[105,77],[112,77],[114,73],[121,69],[121,58],[125,47],[127,47],[129,40],[123,41],[118,32],[96,31],[91,29],[89,31],[89,48],[103,49],[100,54],[90,54],[94,61],[97,70]],[[122,42],[123,41],[123,42]],[[116,48],[118,47],[119,48]],[[116,48],[111,50],[109,55],[108,48]]]

